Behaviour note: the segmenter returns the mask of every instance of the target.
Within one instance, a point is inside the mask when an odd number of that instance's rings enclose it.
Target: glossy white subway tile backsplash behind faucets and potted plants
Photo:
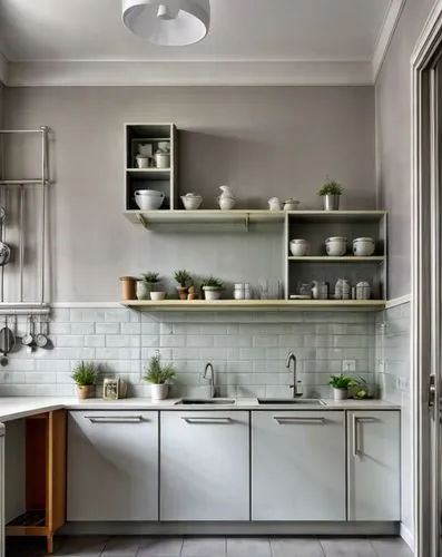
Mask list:
[[[406,317],[399,312],[384,358],[404,349]],[[50,323],[52,350],[11,354],[8,371],[0,370],[1,392],[73,394],[71,371],[80,360],[101,364],[105,374],[125,378],[134,395],[148,395],[144,382],[148,359],[159,350],[164,362],[177,369],[175,395],[208,395],[204,365],[215,369],[218,394],[289,395],[292,375],[285,368],[288,350],[297,358],[298,379],[308,389],[327,392],[328,377],[342,360],[355,360],[357,373],[372,373],[376,316],[335,312],[137,313],[118,309],[55,310]],[[26,321],[20,322],[26,331]],[[379,344],[379,342],[377,342]],[[394,373],[400,373],[392,364]],[[16,379],[14,379],[16,374]],[[401,375],[402,377],[402,375]],[[402,384],[402,383],[401,383]],[[100,395],[100,388],[97,388]],[[273,394],[269,394],[273,393]]]

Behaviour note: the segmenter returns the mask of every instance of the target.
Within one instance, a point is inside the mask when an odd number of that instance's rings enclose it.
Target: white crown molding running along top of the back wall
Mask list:
[[[10,87],[373,85],[370,61],[10,62]]]

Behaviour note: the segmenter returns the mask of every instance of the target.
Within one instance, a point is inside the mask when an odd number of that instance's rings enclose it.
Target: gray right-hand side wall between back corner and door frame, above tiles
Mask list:
[[[380,204],[390,216],[389,297],[411,290],[411,81],[410,58],[433,0],[407,0],[376,82]]]

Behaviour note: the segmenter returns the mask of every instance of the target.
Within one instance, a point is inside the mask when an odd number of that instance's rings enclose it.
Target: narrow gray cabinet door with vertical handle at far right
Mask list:
[[[400,520],[400,412],[347,413],[348,520]]]

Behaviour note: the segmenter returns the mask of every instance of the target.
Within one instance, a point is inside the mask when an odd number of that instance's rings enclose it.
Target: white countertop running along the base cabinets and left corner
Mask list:
[[[386,400],[343,400],[322,399],[325,405],[318,404],[258,404],[257,399],[235,399],[235,404],[176,404],[180,399],[153,401],[134,398],[115,401],[58,397],[3,397],[0,398],[0,422],[17,420],[28,416],[49,412],[51,410],[400,410],[399,404]]]

